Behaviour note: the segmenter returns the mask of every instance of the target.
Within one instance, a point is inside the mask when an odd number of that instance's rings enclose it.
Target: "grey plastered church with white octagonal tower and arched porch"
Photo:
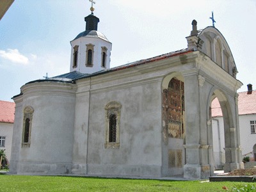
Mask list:
[[[71,44],[70,72],[24,84],[15,95],[10,172],[206,179],[214,173],[211,102],[225,132],[225,172],[243,168],[237,68],[218,29],[188,47],[110,68],[99,18]]]

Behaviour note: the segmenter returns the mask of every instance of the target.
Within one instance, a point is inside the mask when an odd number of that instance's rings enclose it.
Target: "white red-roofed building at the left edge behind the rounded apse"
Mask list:
[[[14,102],[0,100],[0,150],[5,149],[8,161],[12,150],[14,111]]]

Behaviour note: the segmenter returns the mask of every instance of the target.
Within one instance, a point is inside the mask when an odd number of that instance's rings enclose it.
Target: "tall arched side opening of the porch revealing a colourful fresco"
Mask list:
[[[163,118],[163,162],[166,164],[166,175],[183,175],[185,162],[184,144],[185,104],[184,78],[173,72],[164,77],[162,82],[162,118]]]

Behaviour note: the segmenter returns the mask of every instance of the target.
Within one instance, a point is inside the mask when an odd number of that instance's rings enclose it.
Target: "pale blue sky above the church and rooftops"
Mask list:
[[[237,79],[256,87],[256,0],[95,0],[98,31],[112,42],[111,67],[187,47],[186,36],[212,25],[232,51]],[[0,20],[0,100],[35,79],[69,72],[70,41],[84,31],[89,0],[15,0]],[[255,73],[255,74],[254,74]]]

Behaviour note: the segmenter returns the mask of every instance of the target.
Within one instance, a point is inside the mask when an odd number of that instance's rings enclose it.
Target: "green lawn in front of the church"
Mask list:
[[[225,191],[243,182],[103,179],[0,174],[0,191]]]

